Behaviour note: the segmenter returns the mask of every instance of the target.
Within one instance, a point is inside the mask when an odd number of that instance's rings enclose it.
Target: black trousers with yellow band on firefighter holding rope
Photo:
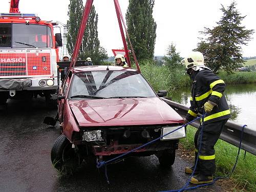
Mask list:
[[[204,175],[211,175],[215,173],[216,165],[215,165],[215,150],[214,145],[218,141],[222,128],[224,127],[227,119],[210,122],[204,124],[203,126],[203,136],[201,141],[201,150],[199,154],[197,169]],[[196,147],[196,151],[199,150],[199,142],[200,142],[200,131],[202,129],[202,125],[200,125],[197,130],[194,138],[194,143]],[[196,153],[197,155],[197,153]]]

